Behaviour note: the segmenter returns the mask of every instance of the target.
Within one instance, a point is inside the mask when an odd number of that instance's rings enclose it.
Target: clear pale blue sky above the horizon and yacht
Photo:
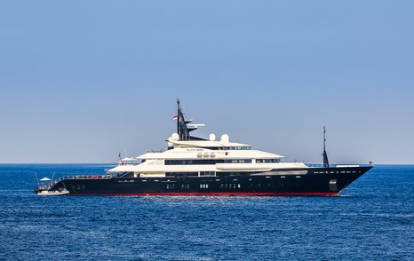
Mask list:
[[[0,1],[0,162],[116,162],[200,136],[414,163],[413,1]]]

